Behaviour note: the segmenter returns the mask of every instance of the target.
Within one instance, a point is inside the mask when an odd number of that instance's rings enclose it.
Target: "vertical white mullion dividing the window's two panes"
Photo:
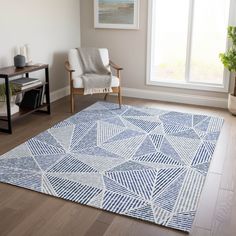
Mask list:
[[[192,35],[193,35],[193,17],[194,17],[194,1],[189,0],[189,16],[188,16],[188,35],[187,35],[187,49],[186,49],[186,64],[185,64],[185,81],[190,80],[190,63],[192,51]]]

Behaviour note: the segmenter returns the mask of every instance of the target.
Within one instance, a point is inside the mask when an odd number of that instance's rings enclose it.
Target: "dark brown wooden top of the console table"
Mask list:
[[[37,70],[45,69],[48,67],[48,64],[35,64],[32,66],[25,66],[24,68],[16,68],[15,66],[8,66],[0,68],[0,77],[13,77],[17,75],[22,75],[30,72],[34,72]]]

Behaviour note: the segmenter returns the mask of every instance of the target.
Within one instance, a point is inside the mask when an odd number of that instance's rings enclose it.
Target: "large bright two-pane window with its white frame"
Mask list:
[[[149,0],[148,84],[226,91],[231,2]]]

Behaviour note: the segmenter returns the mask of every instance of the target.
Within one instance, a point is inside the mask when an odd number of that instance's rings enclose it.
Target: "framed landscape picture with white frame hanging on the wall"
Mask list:
[[[139,29],[140,0],[94,0],[94,28]]]

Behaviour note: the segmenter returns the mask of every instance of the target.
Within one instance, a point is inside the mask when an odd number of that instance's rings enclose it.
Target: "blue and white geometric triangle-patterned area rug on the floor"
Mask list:
[[[98,102],[0,157],[0,181],[190,231],[223,119]]]

